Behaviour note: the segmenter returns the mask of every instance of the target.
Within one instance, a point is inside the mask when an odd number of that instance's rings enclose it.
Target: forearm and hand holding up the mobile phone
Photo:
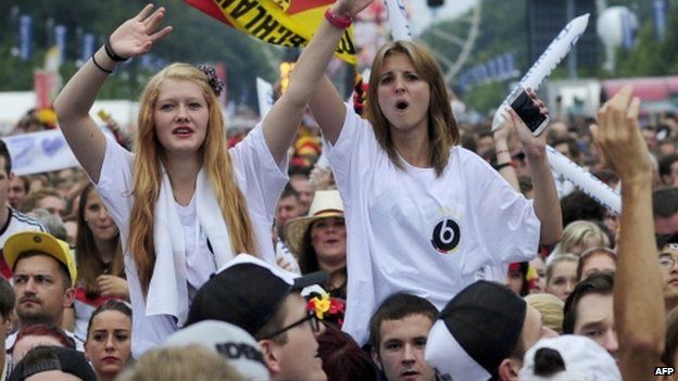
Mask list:
[[[537,98],[535,91],[528,89],[528,93],[539,106],[542,114],[548,113],[543,102]],[[561,202],[555,190],[555,182],[551,174],[549,158],[547,157],[547,135],[538,137],[525,126],[518,115],[510,109],[512,122],[516,125],[516,131],[529,165],[535,190],[535,214],[541,221],[542,244],[554,244],[563,234],[563,216]]]

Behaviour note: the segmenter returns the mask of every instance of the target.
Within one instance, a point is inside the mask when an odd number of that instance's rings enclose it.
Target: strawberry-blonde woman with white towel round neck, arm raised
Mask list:
[[[66,141],[121,231],[135,357],[183,325],[196,291],[235,255],[274,263],[271,226],[303,115],[287,111],[278,120],[274,106],[227,150],[223,84],[213,69],[176,63],[143,90],[136,150],[127,152],[101,132],[89,109],[117,63],[172,31],[159,28],[165,10],[152,9],[118,26],[54,102]],[[277,104],[286,102],[298,101],[284,96]]]

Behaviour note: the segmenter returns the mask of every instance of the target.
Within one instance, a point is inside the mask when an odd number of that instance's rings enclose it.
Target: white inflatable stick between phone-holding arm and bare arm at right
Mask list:
[[[553,170],[565,176],[577,186],[577,188],[581,189],[586,194],[590,195],[615,214],[618,215],[622,212],[622,198],[606,183],[557,152],[551,145],[547,145],[547,154],[549,155],[549,164],[551,164]]]

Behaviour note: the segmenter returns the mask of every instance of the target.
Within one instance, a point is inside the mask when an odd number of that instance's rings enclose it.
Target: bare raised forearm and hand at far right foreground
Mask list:
[[[664,350],[662,277],[652,221],[652,165],[638,126],[640,101],[624,87],[591,126],[604,161],[622,179],[614,309],[624,380],[648,380]]]

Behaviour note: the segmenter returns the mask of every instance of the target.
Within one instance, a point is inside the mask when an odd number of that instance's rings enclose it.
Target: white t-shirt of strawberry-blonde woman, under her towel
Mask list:
[[[285,170],[287,162],[281,163],[280,166],[275,163],[264,140],[261,124],[228,153],[233,161],[236,182],[247,199],[260,255],[263,259],[275,264],[271,227],[278,198],[288,181]],[[134,204],[133,162],[131,153],[118,145],[114,139],[106,137],[105,156],[97,191],[101,194],[111,217],[121,231],[125,253],[125,275],[134,310],[131,347],[134,357],[138,358],[143,352],[162,343],[167,335],[176,331],[179,322],[168,315],[146,316],[145,313],[146,303],[139,277],[127,246],[129,216]],[[192,209],[191,205],[193,205]],[[214,257],[208,249],[206,236],[197,221],[193,201],[191,205],[180,207],[176,204],[177,214],[184,226],[184,237],[190,238],[185,239],[189,299],[192,299],[196,290],[216,270]],[[194,250],[196,247],[198,250]]]

